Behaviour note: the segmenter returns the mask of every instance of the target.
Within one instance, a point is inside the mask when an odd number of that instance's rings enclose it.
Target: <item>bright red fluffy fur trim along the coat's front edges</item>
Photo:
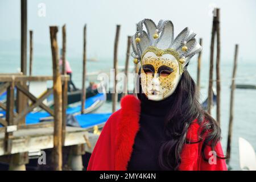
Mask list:
[[[115,170],[125,171],[133,151],[135,136],[139,130],[139,118],[141,113],[141,101],[138,98],[129,95],[121,100],[121,115],[118,122],[116,152],[115,152]],[[192,122],[187,132],[187,139],[196,141],[198,139],[197,131],[199,124]],[[181,154],[180,170],[192,169],[198,158],[199,144],[185,145]],[[196,149],[196,150],[195,150]]]

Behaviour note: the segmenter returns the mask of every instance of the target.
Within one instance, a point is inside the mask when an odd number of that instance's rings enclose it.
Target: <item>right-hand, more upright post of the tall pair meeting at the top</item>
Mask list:
[[[216,9],[216,33],[217,33],[217,57],[216,57],[216,87],[217,87],[217,106],[216,120],[221,122],[221,77],[220,77],[220,9]]]

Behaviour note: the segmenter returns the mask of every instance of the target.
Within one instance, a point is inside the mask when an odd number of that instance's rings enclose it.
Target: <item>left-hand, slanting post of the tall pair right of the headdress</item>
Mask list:
[[[216,22],[216,16],[214,16],[213,14],[212,39],[210,40],[210,70],[209,70],[209,87],[208,87],[208,113],[209,114],[211,113],[212,103],[213,103],[212,86],[213,86],[214,38],[215,38],[215,31],[216,31],[215,22]]]

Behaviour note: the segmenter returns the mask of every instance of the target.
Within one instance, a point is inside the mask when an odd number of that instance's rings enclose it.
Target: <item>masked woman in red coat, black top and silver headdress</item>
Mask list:
[[[174,39],[170,20],[138,23],[138,98],[124,97],[108,119],[88,170],[226,170],[220,126],[201,108],[187,71],[201,51],[195,35],[185,28]]]

